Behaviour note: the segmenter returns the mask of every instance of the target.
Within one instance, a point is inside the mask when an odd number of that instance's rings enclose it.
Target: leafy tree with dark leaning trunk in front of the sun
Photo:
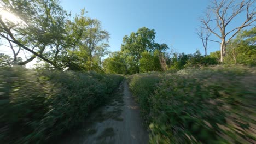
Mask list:
[[[56,63],[43,55],[45,49],[59,39],[61,35],[59,24],[63,23],[66,11],[55,0],[31,0],[0,2],[2,10],[16,15],[17,20],[10,20],[0,15],[0,37],[9,41],[15,47],[21,47],[31,53],[26,61],[18,63],[25,65],[39,57],[59,68]],[[19,50],[18,50],[19,53]],[[18,55],[15,52],[15,55]]]

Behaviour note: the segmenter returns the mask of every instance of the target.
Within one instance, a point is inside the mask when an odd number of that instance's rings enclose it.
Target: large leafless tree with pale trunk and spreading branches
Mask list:
[[[236,3],[236,0],[213,0],[206,17],[201,19],[202,28],[208,29],[211,33],[216,35],[220,41],[220,62],[223,62],[223,58],[226,53],[226,45],[230,42],[235,35],[241,31],[242,28],[252,26],[255,22],[255,0],[240,0],[240,3]],[[246,20],[237,27],[228,27],[231,21],[240,14],[245,14]],[[214,15],[214,19],[212,19]],[[215,22],[216,27],[211,27],[211,24]],[[216,29],[219,30],[215,31]]]

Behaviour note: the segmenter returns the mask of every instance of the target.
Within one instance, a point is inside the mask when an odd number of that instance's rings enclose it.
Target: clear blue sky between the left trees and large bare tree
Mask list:
[[[124,35],[143,26],[155,29],[156,42],[173,45],[177,52],[202,53],[201,40],[195,33],[200,25],[208,0],[61,0],[72,16],[85,8],[88,16],[102,22],[110,33],[110,50],[119,51]],[[213,36],[214,37],[214,36]],[[208,52],[219,50],[218,43],[210,43]]]

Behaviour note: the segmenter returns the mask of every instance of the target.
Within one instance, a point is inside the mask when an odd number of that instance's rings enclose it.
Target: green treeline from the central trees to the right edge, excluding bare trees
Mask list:
[[[103,67],[107,73],[135,74],[216,64],[256,65],[255,35],[255,27],[240,31],[226,45],[224,62],[221,63],[220,51],[210,55],[202,55],[199,50],[193,54],[177,53],[167,44],[155,43],[154,29],[142,27],[136,33],[125,35],[121,51],[110,53]]]

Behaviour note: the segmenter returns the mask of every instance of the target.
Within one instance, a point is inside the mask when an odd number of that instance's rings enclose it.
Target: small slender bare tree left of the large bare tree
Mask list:
[[[210,40],[211,32],[208,29],[196,29],[196,34],[202,40],[203,48],[205,49],[205,56],[207,55],[207,44],[208,40]],[[213,41],[213,40],[212,40]]]

